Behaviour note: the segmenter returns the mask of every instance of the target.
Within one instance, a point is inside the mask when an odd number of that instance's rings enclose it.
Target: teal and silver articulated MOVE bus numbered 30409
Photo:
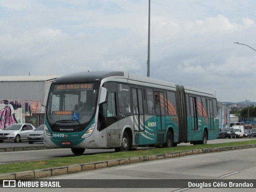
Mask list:
[[[219,134],[214,95],[121,71],[58,77],[42,105],[44,145],[74,154],[206,144]]]

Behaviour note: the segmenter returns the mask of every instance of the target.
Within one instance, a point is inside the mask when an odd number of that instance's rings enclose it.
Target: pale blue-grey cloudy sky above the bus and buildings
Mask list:
[[[255,10],[255,0],[151,0],[150,77],[256,101]],[[147,60],[148,0],[0,0],[1,76],[146,76]]]

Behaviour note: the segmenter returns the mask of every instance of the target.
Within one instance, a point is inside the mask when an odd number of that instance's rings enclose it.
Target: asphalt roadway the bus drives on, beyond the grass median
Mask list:
[[[246,139],[251,140],[251,139]],[[226,143],[226,142],[234,142],[234,141],[244,141],[244,139],[215,139],[211,141],[207,141],[208,144],[215,144],[215,143]],[[4,144],[4,145],[2,145]],[[36,143],[37,145],[39,143]],[[5,146],[24,146],[24,145],[31,145],[26,142],[22,143],[1,143],[1,147]],[[43,145],[43,143],[41,143]],[[189,143],[182,143],[178,144],[178,146],[190,145]],[[177,147],[178,147],[177,146]],[[145,148],[138,148],[138,149],[145,149]],[[114,152],[114,149],[86,149],[84,155],[88,154],[96,154],[96,153],[106,153],[106,152]],[[71,150],[65,148],[58,148],[58,149],[45,149],[45,150],[26,150],[26,151],[16,151],[16,152],[1,152],[0,153],[0,164],[6,163],[14,163],[14,162],[26,162],[26,161],[34,161],[34,160],[45,160],[50,158],[58,158],[58,157],[67,157],[67,156],[74,156]]]

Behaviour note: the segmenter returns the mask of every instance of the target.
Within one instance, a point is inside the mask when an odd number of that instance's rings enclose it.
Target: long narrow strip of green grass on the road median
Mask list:
[[[179,152],[179,151],[202,149],[202,148],[219,148],[219,147],[226,147],[226,146],[238,146],[238,145],[246,145],[246,144],[256,144],[256,139],[250,140],[250,141],[239,141],[239,142],[220,143],[220,144],[206,144],[206,145],[200,144],[200,145],[177,146],[172,148],[152,148],[152,149],[145,149],[145,150],[100,153],[100,154],[91,154],[91,155],[84,154],[81,156],[53,158],[48,160],[1,164],[0,174],[52,168],[52,167],[58,167],[58,166],[67,166],[72,164],[82,164],[82,163],[88,163],[88,162],[97,162],[97,161],[103,161],[103,160],[146,156],[146,155],[152,155],[152,154]],[[26,165],[24,166],[24,164]]]

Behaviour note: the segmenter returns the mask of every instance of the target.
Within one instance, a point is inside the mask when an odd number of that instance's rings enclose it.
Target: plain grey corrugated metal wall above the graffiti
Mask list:
[[[0,82],[0,99],[42,100],[49,87],[50,82],[44,81]]]

